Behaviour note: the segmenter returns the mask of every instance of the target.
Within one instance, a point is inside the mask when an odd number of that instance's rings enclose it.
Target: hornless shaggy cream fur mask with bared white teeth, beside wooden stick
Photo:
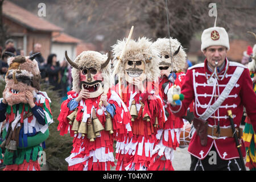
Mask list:
[[[118,59],[125,47],[126,40],[118,40],[113,46],[114,57]],[[122,61],[117,68],[117,74],[121,77],[125,74],[125,80],[130,84],[133,78],[141,78],[141,80],[156,81],[159,76],[158,71],[158,55],[159,52],[153,49],[152,42],[143,37],[136,40],[129,40]]]

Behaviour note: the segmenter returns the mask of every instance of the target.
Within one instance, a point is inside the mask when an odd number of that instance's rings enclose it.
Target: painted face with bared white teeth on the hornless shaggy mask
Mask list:
[[[125,62],[125,80],[130,84],[133,78],[141,78],[142,81],[146,79],[145,63],[143,60],[127,60]]]

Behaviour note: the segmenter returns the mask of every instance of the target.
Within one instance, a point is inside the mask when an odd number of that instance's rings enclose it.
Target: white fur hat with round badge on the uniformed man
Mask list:
[[[225,46],[229,50],[229,36],[225,28],[210,27],[201,36],[201,51],[209,46]]]

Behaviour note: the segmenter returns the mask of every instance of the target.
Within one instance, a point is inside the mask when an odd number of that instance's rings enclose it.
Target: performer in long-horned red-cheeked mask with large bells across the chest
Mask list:
[[[132,134],[129,110],[109,89],[110,56],[84,51],[71,61],[66,52],[73,67],[73,90],[61,105],[58,130],[60,135],[69,130],[74,137],[71,155],[65,159],[68,170],[110,170],[110,165],[114,166],[114,138],[123,140]]]

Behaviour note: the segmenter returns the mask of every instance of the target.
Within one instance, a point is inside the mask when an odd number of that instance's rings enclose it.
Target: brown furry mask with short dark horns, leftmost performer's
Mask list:
[[[38,63],[34,58],[40,53],[31,56],[15,56],[13,53],[5,52],[11,58],[8,61],[9,69],[5,76],[5,90],[3,98],[7,104],[12,106],[19,103],[27,103],[24,91],[29,90],[35,95],[40,90],[40,71]]]

